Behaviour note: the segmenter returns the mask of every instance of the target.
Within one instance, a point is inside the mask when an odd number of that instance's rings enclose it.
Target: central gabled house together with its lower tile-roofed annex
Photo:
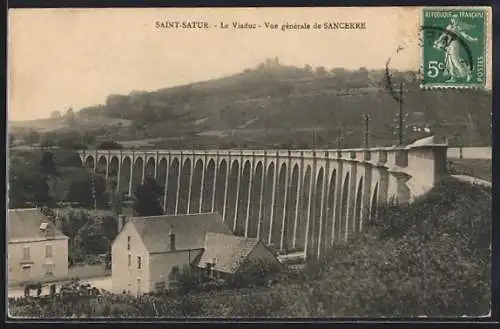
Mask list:
[[[115,293],[173,288],[184,267],[206,271],[213,259],[210,270],[222,275],[235,273],[248,258],[278,262],[258,240],[234,236],[218,213],[132,217],[119,226],[111,249]]]

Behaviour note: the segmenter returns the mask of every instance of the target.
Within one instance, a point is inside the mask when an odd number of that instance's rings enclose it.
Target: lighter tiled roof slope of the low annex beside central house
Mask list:
[[[208,232],[205,236],[205,251],[198,266],[205,268],[207,263],[213,263],[215,259],[216,271],[235,273],[258,243],[259,240],[254,238]]]

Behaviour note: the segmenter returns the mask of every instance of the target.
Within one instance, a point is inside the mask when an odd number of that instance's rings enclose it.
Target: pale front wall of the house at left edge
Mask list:
[[[52,257],[47,258],[45,247],[52,245]],[[30,248],[29,262],[24,261],[24,247]],[[8,245],[9,285],[26,281],[49,282],[68,276],[68,240],[55,239],[35,242],[12,242]],[[22,264],[30,264],[29,272],[23,273]],[[53,264],[53,275],[46,275],[45,264]],[[27,275],[29,273],[29,276]]]

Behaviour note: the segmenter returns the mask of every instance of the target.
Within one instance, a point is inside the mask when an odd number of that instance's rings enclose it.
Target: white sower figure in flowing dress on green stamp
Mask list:
[[[457,15],[451,18],[450,24],[434,42],[434,48],[445,51],[445,75],[450,78],[446,82],[455,82],[457,79],[471,79],[471,68],[467,60],[460,55],[460,41],[458,37],[463,37],[470,42],[476,42],[477,38],[465,33],[465,25],[459,22]]]

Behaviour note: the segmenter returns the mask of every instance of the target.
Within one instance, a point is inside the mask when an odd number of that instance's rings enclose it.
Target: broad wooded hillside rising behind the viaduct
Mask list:
[[[451,144],[491,144],[491,93],[420,90],[415,72],[392,72],[405,81],[406,140],[426,133]],[[279,63],[221,79],[154,92],[110,95],[105,104],[81,109],[82,117],[114,122],[107,138],[156,139],[151,147],[358,147],[369,114],[372,145],[395,142],[398,104],[385,88],[385,71],[297,68]],[[103,123],[106,120],[96,120]],[[80,127],[82,128],[82,127]],[[82,128],[83,129],[83,128]],[[293,132],[293,134],[292,134]],[[313,133],[314,132],[314,133]],[[313,141],[314,135],[314,141]]]

